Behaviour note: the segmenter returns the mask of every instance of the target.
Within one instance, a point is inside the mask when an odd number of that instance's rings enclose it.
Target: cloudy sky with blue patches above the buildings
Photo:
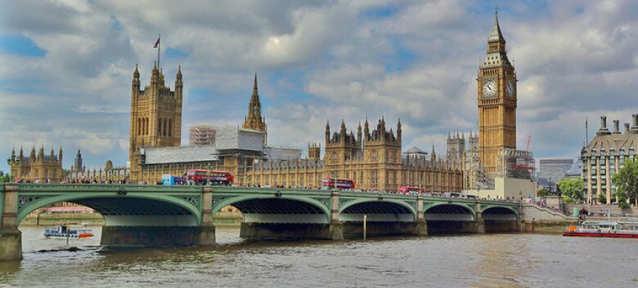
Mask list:
[[[0,0],[0,154],[82,149],[86,166],[128,158],[130,85],[157,59],[184,74],[187,127],[240,125],[254,73],[269,144],[322,142],[401,118],[403,148],[444,153],[477,129],[476,74],[495,1]],[[517,71],[517,146],[575,159],[599,117],[638,113],[638,1],[499,1]],[[621,124],[622,125],[622,124]],[[396,129],[396,128],[395,128]],[[322,143],[323,144],[323,143]],[[7,170],[6,161],[0,170]]]

